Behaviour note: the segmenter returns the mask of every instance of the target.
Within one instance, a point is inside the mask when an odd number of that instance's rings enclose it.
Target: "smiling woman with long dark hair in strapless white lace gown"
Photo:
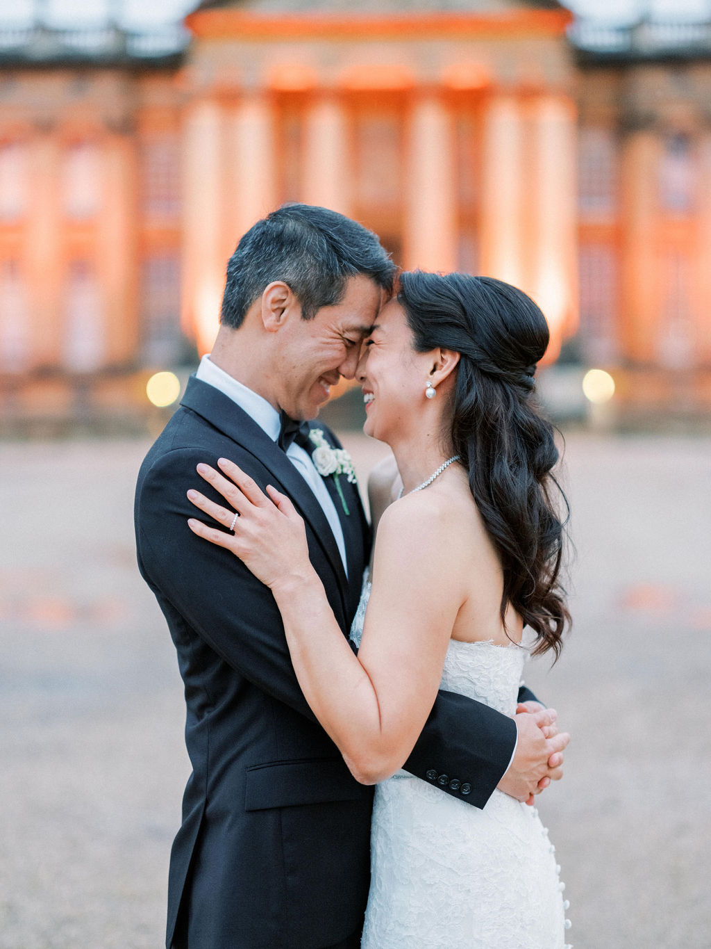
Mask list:
[[[472,808],[401,770],[439,688],[513,716],[527,652],[560,652],[570,618],[557,451],[530,398],[547,344],[543,314],[508,284],[401,275],[357,369],[364,432],[396,462],[371,478],[377,534],[357,654],[286,496],[267,497],[226,459],[203,476],[232,510],[190,494],[234,523],[189,522],[271,588],[305,698],[357,780],[377,784],[367,949],[562,949],[570,925],[536,809],[501,791]]]

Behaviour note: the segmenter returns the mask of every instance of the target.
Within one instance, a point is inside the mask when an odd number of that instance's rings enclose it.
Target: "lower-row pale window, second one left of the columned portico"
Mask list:
[[[88,261],[69,265],[66,285],[64,368],[95,372],[104,363],[105,327],[99,282]]]

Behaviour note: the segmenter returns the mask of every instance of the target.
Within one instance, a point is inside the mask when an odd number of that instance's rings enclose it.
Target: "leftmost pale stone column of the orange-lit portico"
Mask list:
[[[183,126],[182,322],[201,356],[217,333],[225,288],[224,139],[220,103],[192,102]]]

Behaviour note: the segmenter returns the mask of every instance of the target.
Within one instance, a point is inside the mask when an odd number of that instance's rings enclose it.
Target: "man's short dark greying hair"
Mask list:
[[[301,317],[343,298],[349,277],[364,274],[392,292],[395,265],[377,236],[344,214],[309,204],[284,204],[257,221],[228,261],[220,322],[237,329],[247,309],[275,280],[290,287]]]

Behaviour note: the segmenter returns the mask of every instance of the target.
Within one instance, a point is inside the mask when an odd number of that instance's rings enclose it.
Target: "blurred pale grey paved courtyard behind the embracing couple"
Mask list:
[[[381,447],[345,441],[361,474]],[[137,573],[147,442],[0,444],[0,949],[159,949],[189,773]],[[574,735],[540,810],[575,949],[708,949],[711,439],[571,435],[574,633],[528,681]]]

